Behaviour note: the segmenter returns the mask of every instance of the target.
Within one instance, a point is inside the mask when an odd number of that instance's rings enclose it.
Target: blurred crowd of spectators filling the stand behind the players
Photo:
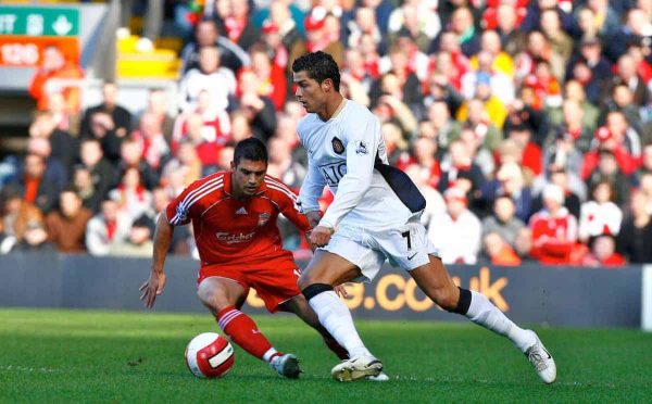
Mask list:
[[[0,167],[1,253],[149,255],[156,215],[251,136],[298,190],[308,157],[290,66],[323,50],[426,195],[444,263],[652,262],[652,1],[205,4],[177,99],[153,89],[130,113],[106,83],[99,105],[53,93],[35,113],[26,155]],[[177,229],[173,252],[196,254],[191,231]]]

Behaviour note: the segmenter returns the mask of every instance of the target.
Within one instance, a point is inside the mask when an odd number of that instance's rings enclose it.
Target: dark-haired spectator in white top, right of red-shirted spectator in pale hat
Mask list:
[[[617,236],[623,222],[623,212],[614,203],[614,190],[609,180],[593,184],[591,199],[581,204],[579,214],[579,241],[601,236]]]

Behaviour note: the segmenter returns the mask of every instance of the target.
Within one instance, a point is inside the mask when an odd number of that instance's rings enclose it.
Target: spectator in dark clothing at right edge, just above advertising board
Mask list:
[[[618,252],[630,263],[652,263],[652,214],[648,210],[648,198],[635,190],[629,202],[629,214],[623,222],[617,238]]]

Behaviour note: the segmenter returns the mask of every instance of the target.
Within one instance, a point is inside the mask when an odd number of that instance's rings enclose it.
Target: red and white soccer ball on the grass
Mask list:
[[[199,378],[224,376],[234,366],[234,348],[216,332],[203,332],[186,346],[186,365]]]

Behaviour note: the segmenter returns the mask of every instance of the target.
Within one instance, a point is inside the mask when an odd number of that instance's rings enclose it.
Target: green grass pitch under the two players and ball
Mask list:
[[[652,402],[652,336],[640,331],[537,329],[559,369],[544,386],[509,341],[474,325],[359,320],[391,380],[338,383],[316,332],[285,315],[255,319],[300,357],[299,380],[238,348],[226,377],[195,378],[184,349],[217,329],[208,314],[0,310],[0,402]]]

